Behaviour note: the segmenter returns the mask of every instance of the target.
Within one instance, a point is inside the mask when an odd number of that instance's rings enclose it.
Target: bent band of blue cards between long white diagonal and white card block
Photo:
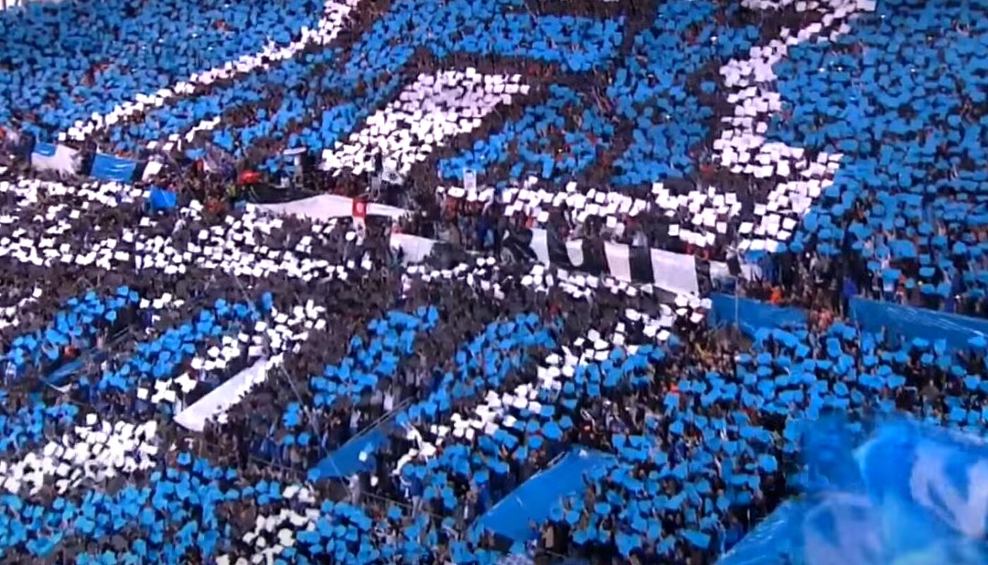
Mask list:
[[[319,153],[333,148],[395,94],[408,72],[404,67],[419,49],[439,60],[453,53],[521,54],[578,71],[606,58],[617,45],[618,22],[502,13],[518,6],[517,2],[459,2],[426,9],[399,2],[353,45],[308,52],[300,63],[288,60],[258,70],[246,80],[210,86],[203,96],[179,101],[174,113],[153,110],[143,120],[138,116],[136,123],[111,125],[109,140],[120,149],[133,150],[138,143],[155,141],[157,147],[158,141],[180,141],[187,133],[203,130],[204,141],[241,155],[255,145],[271,155],[297,146]],[[474,35],[458,33],[466,22],[476,27]],[[543,44],[527,46],[523,39],[533,30],[549,37]],[[338,32],[326,38],[329,46]],[[497,41],[491,41],[490,35]],[[391,47],[392,42],[400,44]],[[368,57],[369,52],[374,56]],[[413,76],[414,69],[410,67]]]

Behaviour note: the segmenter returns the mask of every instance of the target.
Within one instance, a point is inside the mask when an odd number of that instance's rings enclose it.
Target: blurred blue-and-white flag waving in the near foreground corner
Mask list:
[[[988,451],[980,438],[904,421],[816,434],[823,481],[784,503],[720,563],[984,563]]]

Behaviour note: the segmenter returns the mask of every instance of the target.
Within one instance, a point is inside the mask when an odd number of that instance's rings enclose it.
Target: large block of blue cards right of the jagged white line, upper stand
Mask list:
[[[788,247],[844,255],[868,296],[983,315],[980,13],[885,2],[774,67],[782,109],[766,135],[844,155]]]

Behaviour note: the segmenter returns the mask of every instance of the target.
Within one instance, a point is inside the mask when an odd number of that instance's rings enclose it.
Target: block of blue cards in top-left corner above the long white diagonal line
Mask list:
[[[45,136],[66,132],[269,44],[288,46],[303,29],[317,29],[322,6],[299,0],[270,8],[117,1],[4,11],[0,84],[10,104],[2,121],[33,124]]]

